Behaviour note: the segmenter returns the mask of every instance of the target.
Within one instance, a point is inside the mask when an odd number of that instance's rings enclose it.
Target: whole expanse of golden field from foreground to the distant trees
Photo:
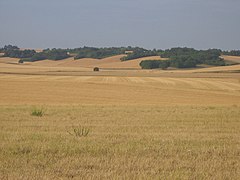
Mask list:
[[[0,58],[0,179],[239,179],[239,65],[120,57]]]

